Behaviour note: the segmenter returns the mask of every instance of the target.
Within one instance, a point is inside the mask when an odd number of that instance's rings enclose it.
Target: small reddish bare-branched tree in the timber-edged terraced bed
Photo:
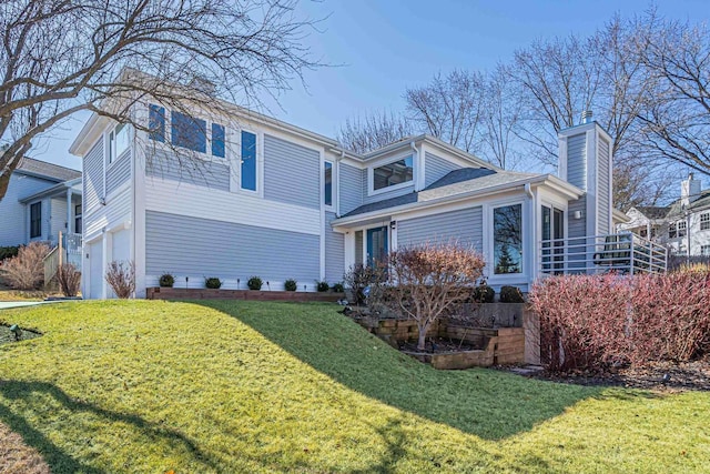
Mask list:
[[[483,275],[483,256],[456,242],[403,248],[389,253],[393,284],[384,301],[417,322],[423,351],[432,324],[470,296],[471,288]]]

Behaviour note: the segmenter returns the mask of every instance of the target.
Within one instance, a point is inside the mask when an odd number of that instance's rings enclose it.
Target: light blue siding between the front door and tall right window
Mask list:
[[[483,252],[481,206],[397,221],[397,246],[417,245],[426,241],[444,243],[452,239]]]

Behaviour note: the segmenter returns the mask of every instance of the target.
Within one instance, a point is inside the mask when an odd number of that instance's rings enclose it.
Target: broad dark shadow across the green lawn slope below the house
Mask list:
[[[493,370],[437,371],[367,333],[338,306],[193,302],[232,315],[315,370],[368,397],[487,440],[531,430],[602,387]],[[396,440],[393,456],[397,456]]]

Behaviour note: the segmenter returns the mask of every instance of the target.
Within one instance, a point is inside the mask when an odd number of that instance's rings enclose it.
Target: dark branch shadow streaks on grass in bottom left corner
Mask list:
[[[80,413],[90,413],[101,418],[100,423],[123,422],[132,425],[141,431],[150,440],[165,440],[171,447],[190,452],[195,460],[203,463],[206,467],[216,468],[216,463],[205,453],[203,453],[191,440],[183,434],[160,426],[155,426],[140,416],[113,412],[101,409],[91,403],[81,402],[71,399],[61,389],[45,382],[22,382],[13,380],[0,380],[0,394],[11,401],[22,401],[28,404],[32,403],[32,399],[37,395],[49,395],[62,409],[71,412],[77,416]],[[51,407],[47,407],[51,411]],[[105,471],[83,464],[70,454],[63,452],[52,441],[32,426],[21,415],[13,413],[9,407],[0,404],[0,421],[2,421],[14,433],[22,436],[24,443],[34,447],[44,462],[50,465],[53,473],[103,473]],[[83,432],[87,441],[90,441],[90,433]]]

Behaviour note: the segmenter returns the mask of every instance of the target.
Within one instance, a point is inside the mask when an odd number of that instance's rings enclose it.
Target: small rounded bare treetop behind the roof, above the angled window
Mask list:
[[[346,120],[337,133],[337,141],[347,150],[366,153],[412,133],[413,129],[404,117],[382,111]]]

